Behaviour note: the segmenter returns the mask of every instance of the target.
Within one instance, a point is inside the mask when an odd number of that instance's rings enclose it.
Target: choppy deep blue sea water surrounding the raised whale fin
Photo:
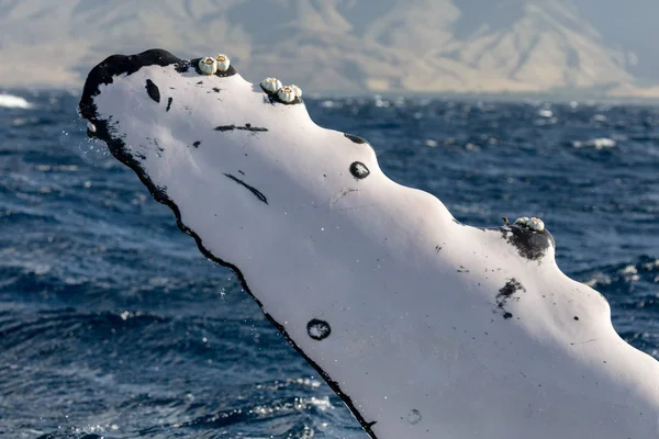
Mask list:
[[[235,277],[86,138],[78,95],[21,95],[34,106],[0,106],[0,437],[366,438]],[[659,358],[659,108],[308,106],[461,222],[543,217],[562,270]]]

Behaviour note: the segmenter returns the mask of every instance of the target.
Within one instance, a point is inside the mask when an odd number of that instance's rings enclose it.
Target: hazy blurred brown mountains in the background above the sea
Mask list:
[[[0,87],[114,53],[219,52],[309,91],[659,97],[659,1],[0,0]]]

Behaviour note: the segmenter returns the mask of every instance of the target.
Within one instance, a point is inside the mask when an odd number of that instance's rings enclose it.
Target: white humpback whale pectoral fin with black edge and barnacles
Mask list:
[[[541,221],[460,224],[223,54],[109,57],[79,109],[371,438],[656,436],[659,363],[552,263]]]

